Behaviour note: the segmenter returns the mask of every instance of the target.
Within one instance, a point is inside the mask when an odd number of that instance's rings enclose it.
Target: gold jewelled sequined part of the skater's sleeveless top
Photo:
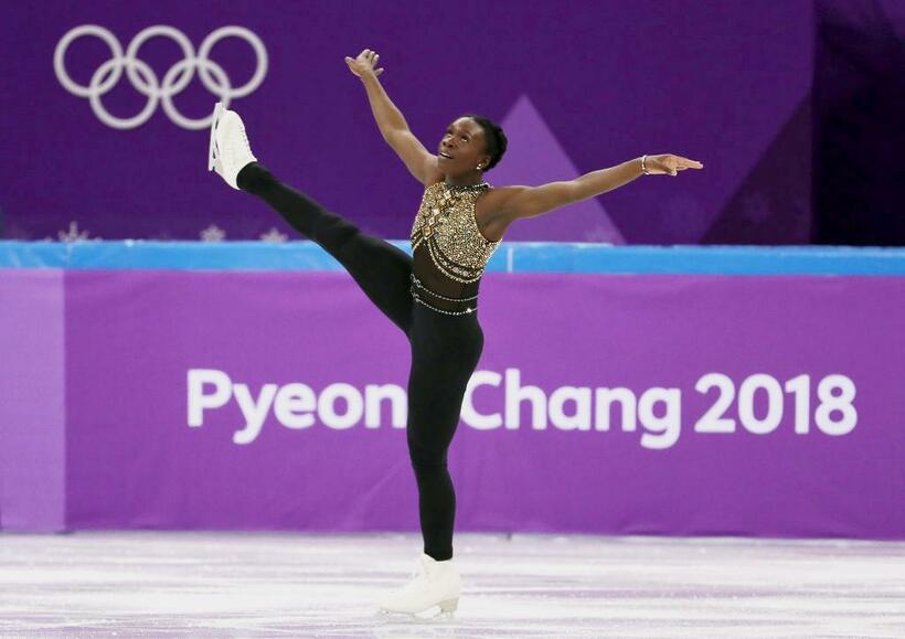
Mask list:
[[[458,283],[478,281],[502,242],[487,239],[475,217],[475,203],[488,189],[487,182],[468,187],[430,184],[412,225],[412,251],[426,246],[436,268]]]

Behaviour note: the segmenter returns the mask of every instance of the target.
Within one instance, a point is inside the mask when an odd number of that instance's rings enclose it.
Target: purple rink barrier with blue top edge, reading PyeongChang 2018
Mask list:
[[[905,539],[902,249],[507,243],[481,290],[458,531]],[[310,243],[0,243],[0,362],[3,530],[417,530],[407,341]]]

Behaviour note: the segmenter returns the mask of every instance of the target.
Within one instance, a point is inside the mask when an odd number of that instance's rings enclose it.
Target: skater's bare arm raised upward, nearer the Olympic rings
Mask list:
[[[386,95],[377,79],[377,76],[383,73],[383,68],[375,68],[377,60],[380,55],[365,49],[354,60],[347,57],[345,64],[353,74],[361,78],[383,139],[396,151],[416,180],[422,184],[432,184],[443,177],[437,168],[437,156],[427,152],[424,145],[408,129],[402,111]]]

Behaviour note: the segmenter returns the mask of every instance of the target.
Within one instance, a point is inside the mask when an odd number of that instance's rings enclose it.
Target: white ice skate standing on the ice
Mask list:
[[[414,579],[387,594],[379,604],[381,613],[417,615],[439,606],[438,616],[451,618],[459,604],[462,583],[453,560],[438,562],[422,554]]]

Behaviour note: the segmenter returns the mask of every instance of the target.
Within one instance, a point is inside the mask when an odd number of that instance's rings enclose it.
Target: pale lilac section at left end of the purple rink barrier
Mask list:
[[[63,271],[0,269],[0,529],[65,526]]]

